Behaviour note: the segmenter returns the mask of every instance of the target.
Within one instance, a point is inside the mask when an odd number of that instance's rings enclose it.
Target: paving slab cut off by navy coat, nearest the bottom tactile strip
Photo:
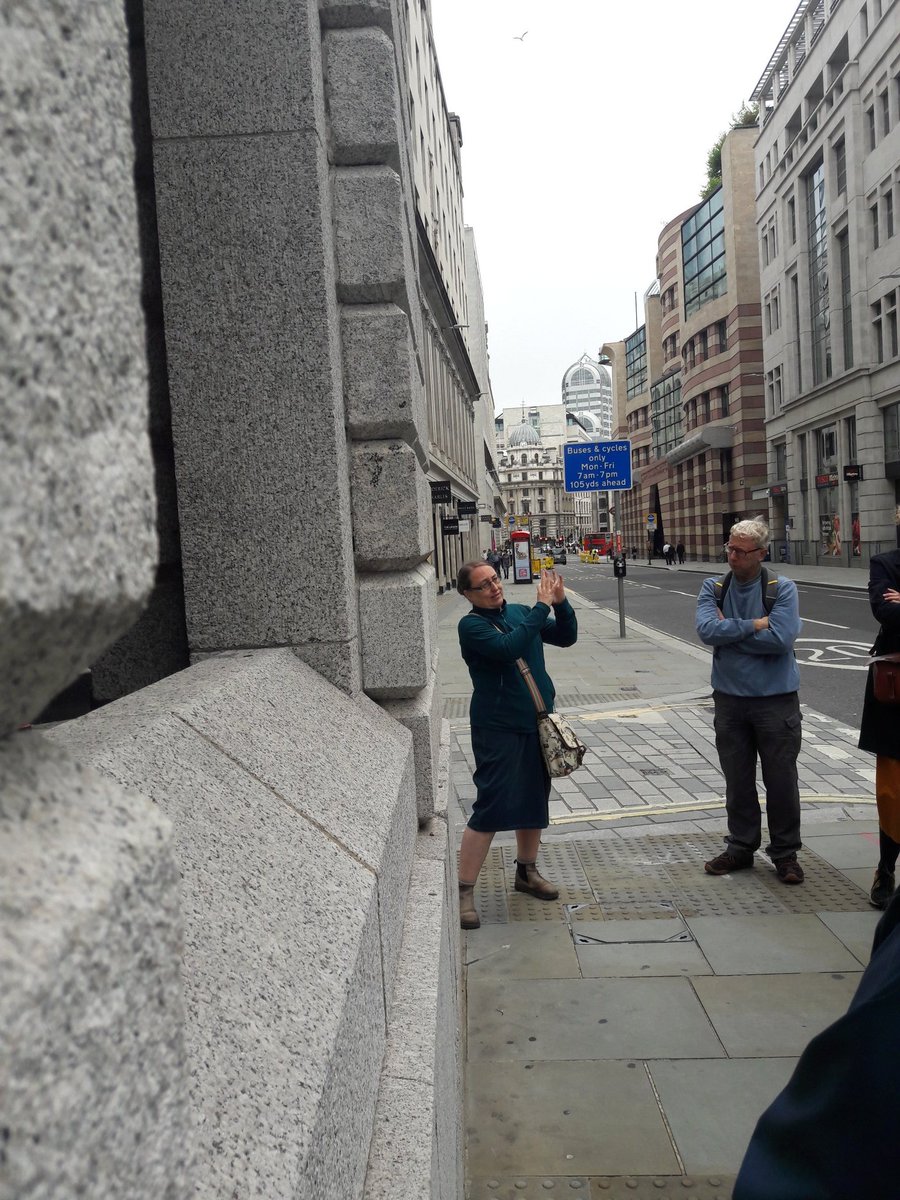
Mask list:
[[[649,1062],[684,1168],[737,1175],[750,1136],[781,1091],[796,1058]]]

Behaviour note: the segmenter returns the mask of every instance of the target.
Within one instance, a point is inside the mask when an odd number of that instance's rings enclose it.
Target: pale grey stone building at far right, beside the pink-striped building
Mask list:
[[[769,518],[794,562],[866,566],[900,503],[900,29],[798,6],[754,91]]]

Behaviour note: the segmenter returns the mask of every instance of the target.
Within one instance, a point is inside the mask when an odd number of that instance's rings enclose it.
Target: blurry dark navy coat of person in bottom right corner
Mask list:
[[[846,1014],[810,1042],[786,1087],[760,1117],[733,1200],[896,1195],[899,1010],[895,894],[875,930],[871,961]]]

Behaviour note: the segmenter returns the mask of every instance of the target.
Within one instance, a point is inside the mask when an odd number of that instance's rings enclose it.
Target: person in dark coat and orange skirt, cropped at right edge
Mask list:
[[[900,550],[876,554],[869,564],[869,605],[881,625],[872,654],[896,653],[900,650]],[[869,900],[876,908],[886,908],[894,894],[894,871],[900,853],[900,708],[875,698],[871,667],[865,683],[859,749],[875,755],[875,800],[878,805],[878,865]]]

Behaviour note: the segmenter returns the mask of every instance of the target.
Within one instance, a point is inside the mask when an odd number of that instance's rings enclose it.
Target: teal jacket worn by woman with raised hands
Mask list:
[[[544,643],[574,646],[578,637],[575,610],[568,600],[533,608],[506,604],[502,608],[473,607],[458,625],[460,648],[472,676],[474,692],[469,721],[486,730],[530,733],[538,719],[534,701],[516,659],[532,668],[547,712],[553,712],[556,688],[544,665]]]

